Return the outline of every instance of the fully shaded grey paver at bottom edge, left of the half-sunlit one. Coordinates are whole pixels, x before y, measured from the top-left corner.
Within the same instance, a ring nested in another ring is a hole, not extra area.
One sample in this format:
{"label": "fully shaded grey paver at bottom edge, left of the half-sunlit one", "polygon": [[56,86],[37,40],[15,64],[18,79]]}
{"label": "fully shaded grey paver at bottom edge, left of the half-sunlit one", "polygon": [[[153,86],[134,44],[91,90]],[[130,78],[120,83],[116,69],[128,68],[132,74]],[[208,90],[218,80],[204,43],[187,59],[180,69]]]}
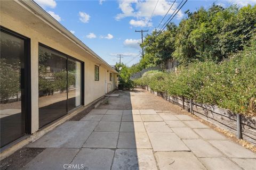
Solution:
{"label": "fully shaded grey paver at bottom edge, left of the half-sunlit one", "polygon": [[82,148],[71,164],[83,164],[83,169],[110,169],[114,152],[112,149]]}

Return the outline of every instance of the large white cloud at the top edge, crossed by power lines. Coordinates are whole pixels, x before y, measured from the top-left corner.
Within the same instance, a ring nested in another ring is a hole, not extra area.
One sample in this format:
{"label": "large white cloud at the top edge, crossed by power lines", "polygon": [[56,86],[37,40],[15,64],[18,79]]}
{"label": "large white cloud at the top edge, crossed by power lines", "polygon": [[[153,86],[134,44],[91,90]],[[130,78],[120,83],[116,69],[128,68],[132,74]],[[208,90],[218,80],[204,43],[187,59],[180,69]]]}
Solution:
{"label": "large white cloud at the top edge, crossed by power lines", "polygon": [[[155,8],[156,1],[138,1],[138,0],[131,0],[131,1],[118,1],[119,8],[121,9],[122,13],[119,13],[116,15],[116,20],[121,20],[125,17],[134,17],[137,18],[137,20],[143,19],[151,20],[150,16]],[[162,0],[158,1],[158,4],[155,8],[153,16],[164,16],[166,12],[169,10],[173,2]],[[178,7],[179,3],[174,3],[171,10],[169,11],[169,14],[172,14],[175,9]],[[183,18],[184,14],[182,13],[182,10],[180,10],[176,18],[181,19]],[[130,21],[131,22],[131,21]],[[133,22],[134,23],[134,22]]]}

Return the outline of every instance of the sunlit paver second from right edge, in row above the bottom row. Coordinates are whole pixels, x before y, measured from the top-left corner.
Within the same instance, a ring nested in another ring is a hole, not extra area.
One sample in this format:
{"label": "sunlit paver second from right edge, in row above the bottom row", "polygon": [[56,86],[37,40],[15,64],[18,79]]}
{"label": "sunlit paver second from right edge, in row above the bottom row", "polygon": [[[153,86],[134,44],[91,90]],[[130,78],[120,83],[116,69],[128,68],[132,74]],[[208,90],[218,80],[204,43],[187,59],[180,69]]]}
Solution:
{"label": "sunlit paver second from right edge, in row above the bottom row", "polygon": [[202,139],[183,139],[183,142],[197,157],[221,157],[220,151]]}

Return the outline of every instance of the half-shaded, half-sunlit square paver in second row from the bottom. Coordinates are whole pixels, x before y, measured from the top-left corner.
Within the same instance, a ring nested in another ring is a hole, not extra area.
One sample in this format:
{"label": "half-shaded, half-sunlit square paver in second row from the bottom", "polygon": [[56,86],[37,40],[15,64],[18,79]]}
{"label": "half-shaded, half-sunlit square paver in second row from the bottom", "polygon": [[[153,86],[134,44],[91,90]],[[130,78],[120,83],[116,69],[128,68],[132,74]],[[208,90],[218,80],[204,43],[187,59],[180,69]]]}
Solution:
{"label": "half-shaded, half-sunlit square paver in second row from the bottom", "polygon": [[152,149],[146,132],[120,132],[117,148]]}

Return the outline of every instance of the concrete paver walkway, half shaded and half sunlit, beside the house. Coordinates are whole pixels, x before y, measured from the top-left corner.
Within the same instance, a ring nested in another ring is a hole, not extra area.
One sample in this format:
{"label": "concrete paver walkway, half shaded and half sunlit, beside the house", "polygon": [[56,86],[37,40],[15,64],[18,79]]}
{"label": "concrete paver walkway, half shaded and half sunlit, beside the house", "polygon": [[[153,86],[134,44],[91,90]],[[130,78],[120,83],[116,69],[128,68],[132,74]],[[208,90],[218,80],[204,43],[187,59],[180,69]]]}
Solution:
{"label": "concrete paver walkway, half shaded and half sunlit, beside the house", "polygon": [[65,122],[28,147],[46,149],[24,169],[256,167],[254,152],[193,117],[145,108],[94,109],[82,120]]}

